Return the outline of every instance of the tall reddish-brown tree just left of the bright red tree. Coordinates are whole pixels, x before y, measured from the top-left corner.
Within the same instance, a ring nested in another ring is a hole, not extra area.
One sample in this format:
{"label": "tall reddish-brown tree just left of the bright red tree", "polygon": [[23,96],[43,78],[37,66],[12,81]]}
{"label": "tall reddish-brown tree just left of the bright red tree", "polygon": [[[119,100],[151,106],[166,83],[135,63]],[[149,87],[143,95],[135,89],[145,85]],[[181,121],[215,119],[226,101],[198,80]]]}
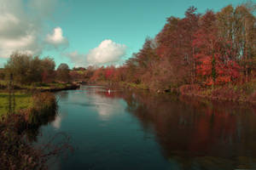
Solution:
{"label": "tall reddish-brown tree just left of the bright red tree", "polygon": [[156,37],[159,43],[157,53],[168,58],[180,83],[195,82],[195,49],[192,42],[199,27],[199,19],[200,14],[196,13],[196,8],[190,7],[185,12],[185,18],[168,18],[166,26]]}

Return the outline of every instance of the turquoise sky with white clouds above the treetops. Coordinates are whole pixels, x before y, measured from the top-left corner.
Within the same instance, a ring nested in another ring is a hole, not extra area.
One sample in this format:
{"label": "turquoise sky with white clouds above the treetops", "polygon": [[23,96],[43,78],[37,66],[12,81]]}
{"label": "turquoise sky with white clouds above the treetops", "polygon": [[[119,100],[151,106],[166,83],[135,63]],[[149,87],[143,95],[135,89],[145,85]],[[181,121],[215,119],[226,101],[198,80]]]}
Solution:
{"label": "turquoise sky with white clouds above the treetops", "polygon": [[[3,6],[4,10],[0,12],[0,16],[3,16],[5,26],[15,25],[15,18],[28,24],[32,23],[31,28],[20,26],[20,30],[13,31],[14,35],[18,32],[18,36],[16,39],[14,36],[7,37],[9,43],[4,42],[6,37],[1,39],[1,36],[9,31],[8,27],[1,30],[0,26],[0,45],[9,44],[6,48],[0,46],[0,66],[3,66],[12,50],[26,50],[32,54],[40,54],[41,57],[49,55],[55,59],[57,65],[65,62],[70,67],[121,64],[143,46],[146,37],[154,37],[162,29],[167,17],[181,18],[190,6],[195,6],[200,13],[204,13],[207,8],[218,11],[228,4],[236,6],[244,2],[0,0],[0,3],[7,4],[6,6],[17,6],[15,11]],[[13,17],[10,14],[13,14]],[[27,33],[27,29],[31,32]],[[20,38],[22,36],[23,39]],[[20,41],[24,43],[20,44]],[[6,50],[7,48],[9,50]]]}

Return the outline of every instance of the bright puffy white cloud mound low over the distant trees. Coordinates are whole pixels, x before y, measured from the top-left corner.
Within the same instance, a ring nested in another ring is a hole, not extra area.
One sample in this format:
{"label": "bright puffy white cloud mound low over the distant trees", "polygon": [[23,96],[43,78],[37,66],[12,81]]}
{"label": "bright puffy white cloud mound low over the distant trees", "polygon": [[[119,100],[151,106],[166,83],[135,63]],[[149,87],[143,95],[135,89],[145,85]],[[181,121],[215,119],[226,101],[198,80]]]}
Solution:
{"label": "bright puffy white cloud mound low over the distant trees", "polygon": [[104,65],[118,62],[125,55],[126,46],[113,42],[112,40],[104,40],[94,49],[91,49],[86,55],[87,62],[90,65]]}

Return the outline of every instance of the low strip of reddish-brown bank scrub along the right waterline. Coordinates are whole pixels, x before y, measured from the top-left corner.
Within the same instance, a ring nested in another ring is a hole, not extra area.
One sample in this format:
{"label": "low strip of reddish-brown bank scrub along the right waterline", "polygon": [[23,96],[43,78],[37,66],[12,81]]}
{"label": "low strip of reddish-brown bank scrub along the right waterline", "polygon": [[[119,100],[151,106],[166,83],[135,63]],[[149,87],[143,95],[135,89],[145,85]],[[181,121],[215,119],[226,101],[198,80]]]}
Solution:
{"label": "low strip of reddish-brown bank scrub along the right waterline", "polygon": [[[252,83],[252,82],[251,82]],[[230,101],[241,104],[256,105],[256,89],[250,84],[242,86],[217,86],[201,87],[199,84],[183,85],[179,88],[171,89],[150,89],[143,84],[131,82],[90,82],[90,85],[106,86],[108,88],[125,88],[148,91],[154,94],[177,94],[196,99],[208,99],[212,101]]]}

